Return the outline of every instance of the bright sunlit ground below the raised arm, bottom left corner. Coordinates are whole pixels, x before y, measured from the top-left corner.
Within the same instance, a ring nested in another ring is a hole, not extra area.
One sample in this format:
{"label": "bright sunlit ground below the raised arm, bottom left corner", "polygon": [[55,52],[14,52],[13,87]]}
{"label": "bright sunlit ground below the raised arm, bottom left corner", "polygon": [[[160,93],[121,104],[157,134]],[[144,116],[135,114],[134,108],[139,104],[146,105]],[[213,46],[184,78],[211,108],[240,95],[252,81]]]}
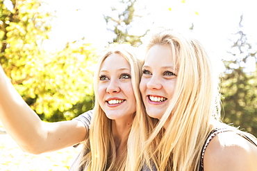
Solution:
{"label": "bright sunlit ground below the raised arm, bottom left corner", "polygon": [[67,171],[80,150],[80,147],[67,147],[56,152],[28,154],[23,152],[8,134],[0,134],[0,170]]}

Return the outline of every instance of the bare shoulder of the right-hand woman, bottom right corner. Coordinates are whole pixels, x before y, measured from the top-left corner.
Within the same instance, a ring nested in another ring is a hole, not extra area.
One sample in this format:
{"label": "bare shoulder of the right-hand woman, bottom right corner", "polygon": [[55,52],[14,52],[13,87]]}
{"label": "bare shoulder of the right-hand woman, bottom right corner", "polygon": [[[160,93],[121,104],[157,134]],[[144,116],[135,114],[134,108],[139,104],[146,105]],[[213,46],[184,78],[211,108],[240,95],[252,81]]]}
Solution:
{"label": "bare shoulder of the right-hand woman, bottom right corner", "polygon": [[256,171],[257,147],[235,132],[217,134],[204,153],[204,171]]}

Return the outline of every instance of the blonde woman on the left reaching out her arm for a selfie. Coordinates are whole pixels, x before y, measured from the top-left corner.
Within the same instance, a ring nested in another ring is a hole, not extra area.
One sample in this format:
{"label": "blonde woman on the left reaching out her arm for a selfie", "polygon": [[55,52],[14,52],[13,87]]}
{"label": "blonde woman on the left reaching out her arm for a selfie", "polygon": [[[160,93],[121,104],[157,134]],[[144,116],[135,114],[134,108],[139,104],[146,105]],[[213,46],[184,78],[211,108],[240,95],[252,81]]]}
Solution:
{"label": "blonde woman on the left reaching out her arm for a selfie", "polygon": [[0,119],[6,131],[22,150],[33,154],[83,143],[71,170],[125,170],[129,132],[142,105],[142,63],[133,51],[125,44],[108,48],[94,74],[94,109],[56,123],[40,120],[0,66]]}

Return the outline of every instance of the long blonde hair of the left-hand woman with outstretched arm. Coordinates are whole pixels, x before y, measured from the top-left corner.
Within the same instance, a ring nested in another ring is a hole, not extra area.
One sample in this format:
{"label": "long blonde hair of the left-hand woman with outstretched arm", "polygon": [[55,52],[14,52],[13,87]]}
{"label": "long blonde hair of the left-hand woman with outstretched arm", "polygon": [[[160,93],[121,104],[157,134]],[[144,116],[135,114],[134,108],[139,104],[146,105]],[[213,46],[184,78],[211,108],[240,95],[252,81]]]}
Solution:
{"label": "long blonde hair of the left-hand woman with outstretched arm", "polygon": [[[142,101],[140,99],[138,85],[141,78],[142,62],[135,57],[132,48],[128,44],[110,46],[98,62],[97,71],[94,73],[94,112],[90,125],[89,138],[83,147],[83,158],[81,160],[83,170],[125,170],[127,152],[125,150],[122,156],[116,156],[115,142],[111,132],[111,120],[106,117],[106,114],[99,105],[97,85],[99,84],[99,71],[104,60],[113,53],[122,55],[131,66],[131,82],[135,100],[137,101],[136,109],[138,110],[141,107],[138,105],[140,104],[138,102]],[[137,111],[135,115],[137,115]]]}

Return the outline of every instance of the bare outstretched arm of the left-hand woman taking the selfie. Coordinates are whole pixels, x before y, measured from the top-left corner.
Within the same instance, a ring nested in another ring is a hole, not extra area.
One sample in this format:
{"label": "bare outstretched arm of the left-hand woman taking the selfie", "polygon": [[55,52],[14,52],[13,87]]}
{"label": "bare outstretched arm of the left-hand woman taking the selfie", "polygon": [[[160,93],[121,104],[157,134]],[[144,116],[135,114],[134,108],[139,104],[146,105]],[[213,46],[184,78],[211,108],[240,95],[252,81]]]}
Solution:
{"label": "bare outstretched arm of the left-hand woman taking the selfie", "polygon": [[19,96],[0,65],[0,120],[25,152],[40,154],[80,143],[87,133],[79,120],[45,123]]}

